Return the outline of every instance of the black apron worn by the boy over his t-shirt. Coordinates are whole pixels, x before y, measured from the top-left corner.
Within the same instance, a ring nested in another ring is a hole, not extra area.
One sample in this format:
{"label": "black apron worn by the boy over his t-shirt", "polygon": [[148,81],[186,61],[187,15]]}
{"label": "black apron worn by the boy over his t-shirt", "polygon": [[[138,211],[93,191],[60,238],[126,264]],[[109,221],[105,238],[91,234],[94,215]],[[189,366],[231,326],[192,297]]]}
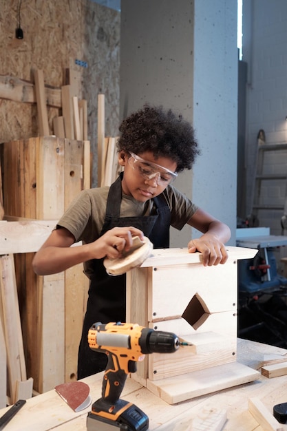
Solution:
{"label": "black apron worn by the boy over his t-shirt", "polygon": [[[122,178],[123,174],[109,189],[105,222],[100,235],[113,227],[132,226],[140,229],[151,240],[154,249],[169,248],[171,213],[164,197],[160,195],[153,199],[156,206],[154,215],[120,218]],[[107,355],[89,348],[87,333],[96,322],[125,322],[125,280],[125,274],[107,275],[103,259],[94,260],[94,275],[89,286],[87,311],[78,350],[78,379],[105,370]]]}

